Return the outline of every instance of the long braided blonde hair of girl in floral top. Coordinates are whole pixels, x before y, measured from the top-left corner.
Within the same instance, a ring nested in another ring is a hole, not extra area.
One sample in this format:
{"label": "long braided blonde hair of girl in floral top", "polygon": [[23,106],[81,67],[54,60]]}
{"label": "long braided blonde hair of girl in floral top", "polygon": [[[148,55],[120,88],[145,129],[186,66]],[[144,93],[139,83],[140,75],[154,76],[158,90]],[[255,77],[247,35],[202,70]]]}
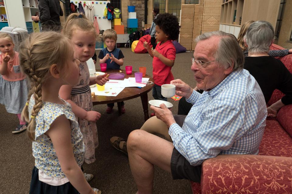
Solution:
{"label": "long braided blonde hair of girl in floral top", "polygon": [[20,46],[19,59],[23,72],[30,79],[30,92],[27,104],[33,94],[34,102],[29,118],[28,105],[22,111],[22,118],[29,122],[27,133],[31,140],[35,140],[35,117],[43,105],[42,85],[50,75],[50,67],[57,64],[64,72],[67,60],[73,54],[70,40],[57,32],[33,33]]}

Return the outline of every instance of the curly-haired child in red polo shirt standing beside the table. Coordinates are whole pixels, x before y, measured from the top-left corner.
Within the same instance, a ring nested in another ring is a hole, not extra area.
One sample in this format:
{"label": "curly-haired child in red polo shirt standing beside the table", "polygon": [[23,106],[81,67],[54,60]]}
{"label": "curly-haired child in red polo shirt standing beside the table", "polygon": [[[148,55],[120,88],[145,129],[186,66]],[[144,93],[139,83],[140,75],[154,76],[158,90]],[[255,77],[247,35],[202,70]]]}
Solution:
{"label": "curly-haired child in red polo shirt standing beside the table", "polygon": [[[161,85],[169,84],[174,77],[171,68],[176,59],[176,48],[171,40],[179,38],[179,22],[176,16],[165,13],[159,14],[154,19],[156,24],[156,39],[159,41],[156,48],[151,50],[147,42],[144,42],[144,48],[147,49],[149,55],[153,57],[153,79],[155,81],[152,96],[156,100],[165,100],[167,98],[161,95]],[[151,114],[152,116],[152,114]]]}

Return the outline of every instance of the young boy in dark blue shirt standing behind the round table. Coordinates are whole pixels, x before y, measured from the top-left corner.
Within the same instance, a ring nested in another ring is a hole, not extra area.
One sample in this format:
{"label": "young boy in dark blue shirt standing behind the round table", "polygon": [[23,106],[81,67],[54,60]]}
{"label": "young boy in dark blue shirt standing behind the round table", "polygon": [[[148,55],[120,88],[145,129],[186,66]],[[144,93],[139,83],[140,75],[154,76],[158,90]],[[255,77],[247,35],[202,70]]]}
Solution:
{"label": "young boy in dark blue shirt standing behind the round table", "polygon": [[[98,58],[99,63],[106,63],[106,69],[120,69],[124,64],[124,55],[122,51],[116,48],[117,35],[113,29],[107,29],[103,32],[103,41],[106,43],[106,48],[101,49]],[[114,103],[107,104],[106,113],[113,111]],[[125,113],[124,102],[121,102],[121,112]]]}

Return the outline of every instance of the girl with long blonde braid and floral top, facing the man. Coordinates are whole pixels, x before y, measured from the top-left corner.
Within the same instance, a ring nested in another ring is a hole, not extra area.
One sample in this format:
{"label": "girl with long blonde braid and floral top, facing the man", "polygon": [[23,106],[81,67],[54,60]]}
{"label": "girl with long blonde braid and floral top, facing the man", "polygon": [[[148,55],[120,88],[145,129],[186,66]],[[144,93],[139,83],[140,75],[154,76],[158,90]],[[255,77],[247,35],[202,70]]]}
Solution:
{"label": "girl with long blonde braid and floral top, facing the man", "polygon": [[68,38],[56,32],[32,34],[20,47],[20,64],[31,82],[22,116],[33,141],[35,167],[30,194],[101,193],[83,175],[85,146],[71,105],[59,97],[62,85],[76,85],[79,60]]}

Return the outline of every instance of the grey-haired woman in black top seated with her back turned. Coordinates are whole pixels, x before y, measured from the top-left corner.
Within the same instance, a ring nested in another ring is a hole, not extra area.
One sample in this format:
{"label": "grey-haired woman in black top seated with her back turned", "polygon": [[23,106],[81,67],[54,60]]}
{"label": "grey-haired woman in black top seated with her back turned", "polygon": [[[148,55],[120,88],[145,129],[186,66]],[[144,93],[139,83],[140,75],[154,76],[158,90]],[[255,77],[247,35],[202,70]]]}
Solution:
{"label": "grey-haired woman in black top seated with her back turned", "polygon": [[253,22],[244,40],[249,49],[244,69],[259,83],[266,103],[275,89],[285,94],[281,100],[268,107],[268,116],[275,117],[281,107],[292,104],[292,75],[279,59],[268,55],[269,47],[274,42],[273,26],[266,21]]}

